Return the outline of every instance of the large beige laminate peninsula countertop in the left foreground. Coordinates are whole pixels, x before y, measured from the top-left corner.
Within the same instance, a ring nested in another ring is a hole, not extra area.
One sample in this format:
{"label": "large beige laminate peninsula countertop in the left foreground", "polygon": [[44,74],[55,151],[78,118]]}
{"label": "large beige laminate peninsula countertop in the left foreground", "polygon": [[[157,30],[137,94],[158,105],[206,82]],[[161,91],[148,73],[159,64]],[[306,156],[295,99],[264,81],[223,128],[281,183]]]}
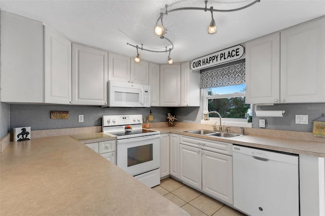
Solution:
{"label": "large beige laminate peninsula countertop in the left foreground", "polygon": [[71,136],[10,142],[0,215],[188,215]]}

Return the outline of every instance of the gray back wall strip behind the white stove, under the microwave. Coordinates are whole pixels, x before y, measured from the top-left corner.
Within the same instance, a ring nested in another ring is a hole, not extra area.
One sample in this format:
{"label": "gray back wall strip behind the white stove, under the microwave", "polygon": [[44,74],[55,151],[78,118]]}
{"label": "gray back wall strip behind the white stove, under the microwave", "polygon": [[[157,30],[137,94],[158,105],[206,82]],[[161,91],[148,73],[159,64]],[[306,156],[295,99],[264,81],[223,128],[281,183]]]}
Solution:
{"label": "gray back wall strip behind the white stove, under the microwave", "polygon": [[[143,121],[150,110],[154,116],[152,122],[166,122],[170,109],[165,107],[150,108],[102,108],[83,105],[10,105],[10,129],[31,127],[31,130],[101,126],[104,115],[142,114]],[[69,119],[50,119],[50,111],[69,111]],[[78,122],[78,115],[84,115],[84,122]]]}

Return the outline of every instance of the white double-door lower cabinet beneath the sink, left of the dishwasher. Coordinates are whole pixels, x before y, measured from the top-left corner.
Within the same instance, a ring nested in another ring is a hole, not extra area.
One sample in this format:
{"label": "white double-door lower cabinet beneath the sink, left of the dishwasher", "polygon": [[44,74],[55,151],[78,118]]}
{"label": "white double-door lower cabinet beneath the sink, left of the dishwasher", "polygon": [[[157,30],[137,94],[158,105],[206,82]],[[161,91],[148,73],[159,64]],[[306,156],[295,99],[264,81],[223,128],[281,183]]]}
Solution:
{"label": "white double-door lower cabinet beneath the sink, left of the dishwasher", "polygon": [[233,204],[232,143],[183,135],[179,140],[181,181],[220,201]]}

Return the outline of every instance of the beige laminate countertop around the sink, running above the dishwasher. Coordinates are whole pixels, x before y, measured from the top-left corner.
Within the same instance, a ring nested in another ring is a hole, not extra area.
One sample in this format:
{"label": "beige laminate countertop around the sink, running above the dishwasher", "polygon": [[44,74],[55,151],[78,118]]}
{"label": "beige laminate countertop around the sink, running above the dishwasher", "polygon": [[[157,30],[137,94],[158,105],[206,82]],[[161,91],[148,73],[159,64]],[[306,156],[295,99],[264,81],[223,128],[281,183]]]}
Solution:
{"label": "beige laminate countertop around the sink, running above the dishwasher", "polygon": [[245,135],[232,139],[210,137],[206,135],[191,134],[184,131],[201,129],[188,127],[152,127],[152,130],[159,130],[160,133],[177,133],[181,135],[193,136],[198,138],[206,138],[216,141],[229,142],[233,144],[243,145],[247,147],[256,147],[267,150],[275,150],[294,154],[312,155],[317,157],[325,157],[325,143],[304,141],[299,139],[276,138],[268,136]]}

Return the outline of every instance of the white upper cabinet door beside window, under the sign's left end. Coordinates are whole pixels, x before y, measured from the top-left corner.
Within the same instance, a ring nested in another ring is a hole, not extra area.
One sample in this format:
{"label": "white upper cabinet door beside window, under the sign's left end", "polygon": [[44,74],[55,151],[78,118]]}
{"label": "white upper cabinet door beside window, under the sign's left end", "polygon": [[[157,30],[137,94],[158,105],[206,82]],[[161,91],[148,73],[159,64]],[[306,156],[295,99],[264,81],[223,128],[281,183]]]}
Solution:
{"label": "white upper cabinet door beside window, under the sign's left end", "polygon": [[181,64],[181,106],[200,106],[200,72]]}

